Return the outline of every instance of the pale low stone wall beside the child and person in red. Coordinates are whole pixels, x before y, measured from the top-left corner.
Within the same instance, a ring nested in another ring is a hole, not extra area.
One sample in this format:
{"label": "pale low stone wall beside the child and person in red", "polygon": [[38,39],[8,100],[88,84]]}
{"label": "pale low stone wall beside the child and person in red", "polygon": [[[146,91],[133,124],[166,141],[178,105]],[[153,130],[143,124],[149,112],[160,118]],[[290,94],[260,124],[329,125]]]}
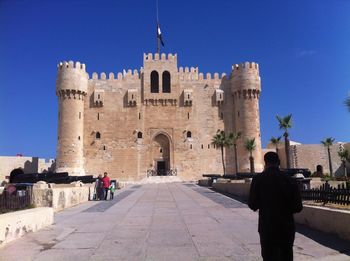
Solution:
{"label": "pale low stone wall beside the child and person in red", "polygon": [[52,207],[55,212],[92,199],[94,184],[46,184],[33,186],[33,200],[37,207]]}

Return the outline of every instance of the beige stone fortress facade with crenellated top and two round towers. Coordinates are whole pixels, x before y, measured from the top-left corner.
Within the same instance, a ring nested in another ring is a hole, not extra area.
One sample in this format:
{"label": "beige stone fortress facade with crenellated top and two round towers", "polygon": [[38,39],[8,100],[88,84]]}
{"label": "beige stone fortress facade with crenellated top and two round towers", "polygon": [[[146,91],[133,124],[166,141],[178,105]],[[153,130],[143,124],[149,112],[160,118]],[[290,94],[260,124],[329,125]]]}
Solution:
{"label": "beige stone fortress facade with crenellated top and two round towers", "polygon": [[[212,144],[218,130],[242,132],[238,169],[249,171],[248,138],[255,138],[255,169],[263,168],[259,67],[246,62],[229,76],[178,67],[177,55],[144,54],[143,67],[114,75],[85,64],[58,65],[56,171],[137,181],[147,174],[177,174],[194,180],[223,173]],[[227,173],[235,172],[233,148],[225,149]],[[151,171],[152,170],[152,171]]]}

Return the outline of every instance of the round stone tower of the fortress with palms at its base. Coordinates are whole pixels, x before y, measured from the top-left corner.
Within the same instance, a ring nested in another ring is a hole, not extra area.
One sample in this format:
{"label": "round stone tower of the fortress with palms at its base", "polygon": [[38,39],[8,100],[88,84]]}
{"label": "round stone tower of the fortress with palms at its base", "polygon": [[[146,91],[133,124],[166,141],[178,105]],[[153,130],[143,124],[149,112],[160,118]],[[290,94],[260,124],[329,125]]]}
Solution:
{"label": "round stone tower of the fortress with palms at its base", "polygon": [[255,171],[263,170],[260,136],[259,97],[261,91],[259,66],[246,62],[232,67],[231,91],[234,101],[235,131],[242,136],[237,142],[238,171],[249,172],[249,152],[245,149],[247,139],[255,138],[256,148],[253,151]]}

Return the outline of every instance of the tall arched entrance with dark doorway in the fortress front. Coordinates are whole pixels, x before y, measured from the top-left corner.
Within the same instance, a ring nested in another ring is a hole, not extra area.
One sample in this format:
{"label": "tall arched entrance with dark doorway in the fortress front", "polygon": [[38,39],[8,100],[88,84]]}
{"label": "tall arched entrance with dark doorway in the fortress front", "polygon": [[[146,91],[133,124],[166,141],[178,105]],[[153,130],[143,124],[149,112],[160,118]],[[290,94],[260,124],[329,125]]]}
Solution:
{"label": "tall arched entrance with dark doorway in the fortress front", "polygon": [[167,175],[170,170],[170,140],[163,133],[157,134],[152,141],[152,160],[158,176]]}

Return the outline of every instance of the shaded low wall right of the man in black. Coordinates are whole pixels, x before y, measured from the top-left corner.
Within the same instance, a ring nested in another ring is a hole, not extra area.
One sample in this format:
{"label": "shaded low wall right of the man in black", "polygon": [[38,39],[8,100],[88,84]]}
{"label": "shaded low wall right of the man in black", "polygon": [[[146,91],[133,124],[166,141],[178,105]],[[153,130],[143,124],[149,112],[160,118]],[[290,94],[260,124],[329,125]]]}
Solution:
{"label": "shaded low wall right of the man in black", "polygon": [[305,206],[294,215],[296,223],[333,233],[350,241],[350,211],[317,206]]}

